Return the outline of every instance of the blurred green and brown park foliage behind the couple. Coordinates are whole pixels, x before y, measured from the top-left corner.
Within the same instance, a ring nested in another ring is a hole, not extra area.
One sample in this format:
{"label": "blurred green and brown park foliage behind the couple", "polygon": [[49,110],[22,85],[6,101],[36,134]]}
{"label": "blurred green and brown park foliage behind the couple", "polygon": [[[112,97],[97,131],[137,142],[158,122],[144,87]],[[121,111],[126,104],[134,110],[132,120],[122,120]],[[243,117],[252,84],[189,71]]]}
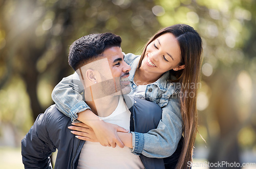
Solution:
{"label": "blurred green and brown park foliage behind the couple", "polygon": [[0,0],[0,146],[20,147],[53,104],[53,87],[73,73],[68,49],[77,38],[113,32],[123,52],[140,54],[157,30],[186,23],[204,43],[198,110],[206,143],[198,136],[195,154],[256,162],[255,13],[255,0]]}

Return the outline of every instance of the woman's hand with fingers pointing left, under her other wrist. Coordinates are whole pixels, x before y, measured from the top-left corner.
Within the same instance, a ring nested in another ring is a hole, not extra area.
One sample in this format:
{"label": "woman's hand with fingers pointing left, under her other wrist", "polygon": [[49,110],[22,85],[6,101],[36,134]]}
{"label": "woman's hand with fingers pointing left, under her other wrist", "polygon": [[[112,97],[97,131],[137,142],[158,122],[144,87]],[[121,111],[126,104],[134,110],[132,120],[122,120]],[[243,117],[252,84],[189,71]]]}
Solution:
{"label": "woman's hand with fingers pointing left, under her other wrist", "polygon": [[72,123],[73,126],[69,126],[71,133],[76,135],[76,138],[80,140],[86,140],[91,142],[99,142],[93,129],[84,123]]}

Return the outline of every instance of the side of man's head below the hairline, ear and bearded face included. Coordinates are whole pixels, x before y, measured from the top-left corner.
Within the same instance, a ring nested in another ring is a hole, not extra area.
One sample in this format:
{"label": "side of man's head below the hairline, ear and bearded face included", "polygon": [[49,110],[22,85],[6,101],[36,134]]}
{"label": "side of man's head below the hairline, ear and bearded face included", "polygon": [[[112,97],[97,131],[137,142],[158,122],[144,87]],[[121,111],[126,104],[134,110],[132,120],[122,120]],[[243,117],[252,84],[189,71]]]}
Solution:
{"label": "side of man's head below the hairline, ear and bearded face included", "polygon": [[87,101],[109,95],[128,94],[131,91],[129,71],[131,67],[123,60],[120,47],[106,49],[97,60],[88,63],[76,72],[83,83]]}

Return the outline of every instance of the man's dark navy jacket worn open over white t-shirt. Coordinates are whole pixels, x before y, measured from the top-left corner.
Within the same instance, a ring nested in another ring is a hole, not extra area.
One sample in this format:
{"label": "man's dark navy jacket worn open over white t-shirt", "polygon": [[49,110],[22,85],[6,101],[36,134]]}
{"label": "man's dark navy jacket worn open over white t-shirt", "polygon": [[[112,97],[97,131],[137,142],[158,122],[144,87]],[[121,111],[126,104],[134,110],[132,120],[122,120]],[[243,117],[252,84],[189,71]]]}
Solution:
{"label": "man's dark navy jacket worn open over white t-shirt", "polygon": [[[161,108],[152,102],[130,98],[124,101],[131,112],[130,130],[145,133],[157,127]],[[152,111],[154,111],[152,113]],[[50,155],[58,149],[54,168],[77,168],[84,140],[70,132],[69,117],[57,110],[56,105],[39,114],[34,125],[22,140],[22,159],[25,168],[52,168]],[[168,158],[148,158],[139,155],[145,168],[175,168],[181,154],[182,140],[175,153]]]}

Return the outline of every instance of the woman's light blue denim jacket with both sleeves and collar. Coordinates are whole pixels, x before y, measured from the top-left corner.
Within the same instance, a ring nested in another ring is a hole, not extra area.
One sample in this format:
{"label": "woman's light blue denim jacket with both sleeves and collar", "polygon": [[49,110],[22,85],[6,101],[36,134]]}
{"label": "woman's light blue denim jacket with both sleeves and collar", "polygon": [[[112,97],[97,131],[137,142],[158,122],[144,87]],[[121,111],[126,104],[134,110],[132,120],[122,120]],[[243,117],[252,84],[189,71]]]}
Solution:
{"label": "woman's light blue denim jacket with both sleeves and collar", "polygon": [[[130,84],[132,90],[137,88],[133,79],[140,56],[124,54],[124,61],[131,66]],[[162,119],[157,129],[147,133],[132,132],[134,154],[143,154],[146,157],[164,158],[172,155],[179,143],[182,134],[182,117],[178,93],[180,88],[176,83],[168,82],[167,71],[156,82],[148,84],[145,99],[157,103],[162,108]],[[83,101],[83,85],[78,74],[74,73],[63,78],[53,89],[52,99],[59,111],[78,122],[77,113],[90,109]]]}

